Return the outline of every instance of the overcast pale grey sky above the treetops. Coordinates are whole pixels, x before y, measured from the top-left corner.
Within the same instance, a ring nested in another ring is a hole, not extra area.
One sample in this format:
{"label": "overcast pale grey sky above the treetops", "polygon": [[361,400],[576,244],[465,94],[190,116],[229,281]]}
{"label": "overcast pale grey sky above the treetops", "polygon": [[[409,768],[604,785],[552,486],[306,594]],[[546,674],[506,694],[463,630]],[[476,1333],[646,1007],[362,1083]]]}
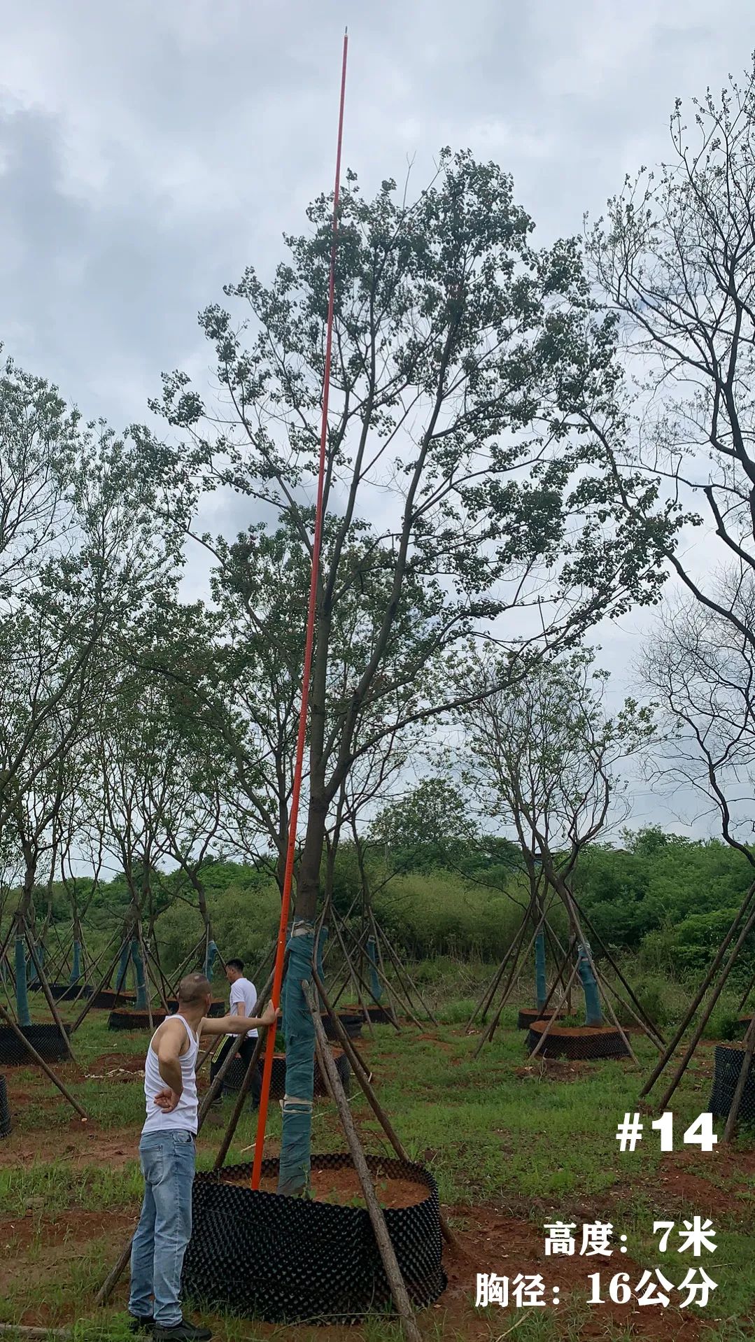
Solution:
{"label": "overcast pale grey sky above the treetops", "polygon": [[[148,419],[160,373],[200,382],[197,313],[333,183],[365,191],[443,145],[515,178],[542,243],[668,150],[675,97],[755,47],[751,0],[24,0],[0,3],[0,338],[89,416]],[[243,525],[243,518],[233,518]],[[220,527],[223,518],[213,525]],[[601,633],[629,687],[641,621]],[[636,797],[636,823],[671,811]]]}

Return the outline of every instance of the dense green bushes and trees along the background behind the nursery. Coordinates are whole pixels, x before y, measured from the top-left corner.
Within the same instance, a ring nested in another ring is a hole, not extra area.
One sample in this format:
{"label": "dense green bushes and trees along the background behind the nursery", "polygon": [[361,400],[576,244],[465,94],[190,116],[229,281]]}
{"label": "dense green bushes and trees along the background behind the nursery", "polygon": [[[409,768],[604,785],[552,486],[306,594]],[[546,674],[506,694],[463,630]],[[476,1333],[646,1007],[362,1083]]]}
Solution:
{"label": "dense green bushes and trees along the background behind the nursery", "polygon": [[[436,843],[418,840],[389,856],[373,848],[367,872],[381,925],[414,962],[437,957],[496,962],[522,922],[526,882],[507,839],[459,841],[451,855]],[[270,870],[220,859],[202,868],[202,882],[221,953],[240,954],[253,965],[278,927],[280,896]],[[644,976],[671,976],[688,984],[699,978],[720,945],[750,882],[744,855],[720,840],[691,840],[649,828],[625,832],[616,844],[586,848],[574,890],[609,950],[637,958]],[[79,884],[83,896],[90,882],[79,878]],[[161,874],[154,887],[156,905],[162,906],[156,933],[168,970],[181,964],[201,935],[201,918],[184,884],[176,871]],[[357,854],[343,843],[335,859],[333,903],[339,915],[358,917],[361,898]],[[122,876],[99,884],[86,919],[93,951],[127,909]],[[56,929],[64,942],[70,917],[66,891],[55,884],[50,953]],[[553,922],[566,931],[555,905]],[[750,941],[738,981],[755,970],[755,935]],[[594,951],[599,958],[599,945]]]}

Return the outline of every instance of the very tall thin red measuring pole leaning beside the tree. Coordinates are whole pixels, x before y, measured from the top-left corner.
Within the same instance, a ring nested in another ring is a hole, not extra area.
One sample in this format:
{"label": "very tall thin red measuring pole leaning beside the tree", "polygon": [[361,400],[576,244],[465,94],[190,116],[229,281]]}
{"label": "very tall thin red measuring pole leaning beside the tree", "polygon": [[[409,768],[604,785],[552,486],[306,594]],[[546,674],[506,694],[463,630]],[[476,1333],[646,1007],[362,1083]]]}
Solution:
{"label": "very tall thin red measuring pole leaning beside the tree", "polygon": [[[319,474],[318,498],[315,509],[315,534],[312,539],[312,574],[310,581],[310,605],[307,611],[307,640],[304,644],[304,670],[302,675],[302,707],[299,710],[299,735],[296,738],[296,761],[294,766],[294,786],[291,789],[291,815],[288,817],[288,847],[286,851],[286,872],[283,875],[283,892],[280,899],[280,927],[278,930],[278,947],[275,953],[275,972],[272,976],[271,1000],[280,1005],[280,988],[283,985],[283,957],[286,954],[286,929],[288,926],[288,910],[291,907],[291,884],[294,880],[294,856],[296,852],[296,821],[299,819],[299,794],[302,792],[302,768],[304,762],[304,738],[307,734],[307,707],[310,702],[310,674],[312,668],[312,646],[315,640],[315,605],[319,574],[319,556],[322,545],[322,513],[323,513],[323,486],[325,463],[327,450],[327,405],[330,400],[330,362],[333,352],[333,309],[335,303],[335,247],[338,242],[338,196],[341,187],[341,145],[343,141],[343,105],[346,101],[346,56],[349,51],[349,30],[343,34],[343,63],[341,68],[341,105],[338,111],[338,148],[335,152],[335,188],[333,192],[333,243],[330,247],[330,290],[327,298],[327,334],[325,346],[325,374],[322,386],[322,423],[319,442]],[[255,1162],[252,1166],[252,1188],[260,1186],[262,1161],[264,1151],[264,1130],[267,1126],[267,1104],[270,1099],[270,1082],[272,1076],[272,1055],[275,1052],[275,1031],[268,1031],[264,1068],[262,1079],[260,1107],[257,1115],[257,1135],[255,1141]]]}

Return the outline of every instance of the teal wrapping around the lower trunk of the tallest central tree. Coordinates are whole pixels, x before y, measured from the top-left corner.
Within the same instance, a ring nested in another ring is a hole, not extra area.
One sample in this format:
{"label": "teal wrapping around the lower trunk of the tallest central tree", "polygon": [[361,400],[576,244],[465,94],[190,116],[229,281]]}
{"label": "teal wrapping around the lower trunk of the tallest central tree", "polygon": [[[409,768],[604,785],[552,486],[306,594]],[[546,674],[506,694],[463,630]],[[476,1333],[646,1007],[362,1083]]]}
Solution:
{"label": "teal wrapping around the lower trunk of the tallest central tree", "polygon": [[286,1098],[278,1178],[278,1192],[290,1196],[306,1190],[311,1169],[315,1027],[302,992],[302,981],[308,982],[311,978],[314,953],[314,923],[295,919],[283,993]]}

